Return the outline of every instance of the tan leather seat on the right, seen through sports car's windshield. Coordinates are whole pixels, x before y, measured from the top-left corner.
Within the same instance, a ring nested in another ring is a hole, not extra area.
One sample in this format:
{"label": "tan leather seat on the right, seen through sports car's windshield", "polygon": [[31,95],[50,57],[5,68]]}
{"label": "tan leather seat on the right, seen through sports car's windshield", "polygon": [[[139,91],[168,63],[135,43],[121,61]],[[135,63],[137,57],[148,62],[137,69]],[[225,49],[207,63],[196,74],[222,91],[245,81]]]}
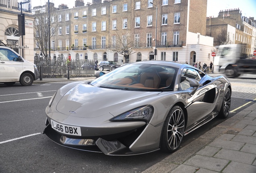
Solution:
{"label": "tan leather seat on the right, seen through sports car's windshield", "polygon": [[157,72],[145,72],[140,76],[140,83],[147,88],[159,88],[161,78]]}

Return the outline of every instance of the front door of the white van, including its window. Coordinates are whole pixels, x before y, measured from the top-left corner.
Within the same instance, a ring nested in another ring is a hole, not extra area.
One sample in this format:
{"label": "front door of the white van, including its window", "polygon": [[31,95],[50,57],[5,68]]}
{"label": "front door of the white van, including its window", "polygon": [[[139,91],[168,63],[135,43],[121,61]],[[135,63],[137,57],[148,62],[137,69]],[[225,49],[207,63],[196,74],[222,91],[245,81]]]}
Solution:
{"label": "front door of the white van, including its window", "polygon": [[18,81],[23,71],[23,62],[19,55],[7,48],[0,48],[0,82]]}

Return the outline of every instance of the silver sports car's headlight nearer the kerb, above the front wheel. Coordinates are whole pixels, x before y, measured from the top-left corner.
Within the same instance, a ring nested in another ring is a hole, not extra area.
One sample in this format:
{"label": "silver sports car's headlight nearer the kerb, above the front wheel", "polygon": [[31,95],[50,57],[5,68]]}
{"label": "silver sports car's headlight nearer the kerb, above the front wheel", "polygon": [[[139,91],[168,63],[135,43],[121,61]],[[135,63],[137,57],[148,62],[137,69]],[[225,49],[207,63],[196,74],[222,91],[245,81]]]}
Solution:
{"label": "silver sports car's headlight nearer the kerb, above the front wheel", "polygon": [[151,105],[138,107],[136,109],[132,109],[126,113],[118,115],[109,121],[145,121],[148,123],[154,113],[154,108]]}

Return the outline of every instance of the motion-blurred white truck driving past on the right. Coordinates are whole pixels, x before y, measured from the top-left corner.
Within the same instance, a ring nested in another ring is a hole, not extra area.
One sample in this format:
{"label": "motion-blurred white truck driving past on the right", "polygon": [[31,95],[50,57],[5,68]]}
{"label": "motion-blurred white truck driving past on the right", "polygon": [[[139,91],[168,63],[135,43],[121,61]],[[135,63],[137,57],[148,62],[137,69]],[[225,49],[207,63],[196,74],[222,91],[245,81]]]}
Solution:
{"label": "motion-blurred white truck driving past on the right", "polygon": [[246,44],[220,45],[214,58],[214,70],[223,72],[229,78],[240,74],[256,74],[256,59],[243,54]]}

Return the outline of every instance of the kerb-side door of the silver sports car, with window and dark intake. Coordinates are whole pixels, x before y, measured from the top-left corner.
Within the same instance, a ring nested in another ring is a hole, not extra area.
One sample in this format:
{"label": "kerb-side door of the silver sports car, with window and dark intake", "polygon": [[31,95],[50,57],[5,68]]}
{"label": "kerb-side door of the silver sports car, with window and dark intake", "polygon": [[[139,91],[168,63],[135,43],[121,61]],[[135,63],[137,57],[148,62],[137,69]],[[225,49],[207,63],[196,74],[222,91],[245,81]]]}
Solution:
{"label": "kerb-side door of the silver sports car, with window and dark intake", "polygon": [[[199,82],[199,87],[193,95],[189,93],[193,90],[190,87],[190,78]],[[197,125],[200,121],[209,115],[214,107],[216,99],[215,84],[210,81],[205,81],[205,77],[201,78],[199,72],[194,68],[184,68],[182,70],[180,80],[180,90],[187,92],[186,109],[188,112],[188,121],[186,129],[190,129]]]}

